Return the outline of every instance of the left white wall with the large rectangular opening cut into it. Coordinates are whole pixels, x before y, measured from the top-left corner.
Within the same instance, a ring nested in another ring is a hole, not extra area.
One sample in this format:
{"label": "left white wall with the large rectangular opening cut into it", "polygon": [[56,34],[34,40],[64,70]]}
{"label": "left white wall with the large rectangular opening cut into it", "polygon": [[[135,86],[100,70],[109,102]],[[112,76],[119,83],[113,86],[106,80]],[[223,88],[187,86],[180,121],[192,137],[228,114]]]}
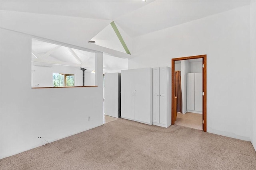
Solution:
{"label": "left white wall with the large rectangular opening cut into it", "polygon": [[[31,88],[31,37],[0,29],[0,158],[102,125],[98,87]],[[102,53],[96,53],[102,75]],[[68,106],[68,107],[64,107]],[[88,121],[90,116],[90,121]]]}

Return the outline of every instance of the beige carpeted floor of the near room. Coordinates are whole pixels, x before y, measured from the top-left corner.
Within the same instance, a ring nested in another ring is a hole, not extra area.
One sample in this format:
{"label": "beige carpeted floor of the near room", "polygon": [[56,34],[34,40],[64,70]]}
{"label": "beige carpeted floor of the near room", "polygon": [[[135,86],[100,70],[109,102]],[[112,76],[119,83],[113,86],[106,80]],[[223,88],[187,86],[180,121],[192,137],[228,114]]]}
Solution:
{"label": "beige carpeted floor of the near room", "polygon": [[250,142],[118,119],[0,160],[1,170],[255,170]]}

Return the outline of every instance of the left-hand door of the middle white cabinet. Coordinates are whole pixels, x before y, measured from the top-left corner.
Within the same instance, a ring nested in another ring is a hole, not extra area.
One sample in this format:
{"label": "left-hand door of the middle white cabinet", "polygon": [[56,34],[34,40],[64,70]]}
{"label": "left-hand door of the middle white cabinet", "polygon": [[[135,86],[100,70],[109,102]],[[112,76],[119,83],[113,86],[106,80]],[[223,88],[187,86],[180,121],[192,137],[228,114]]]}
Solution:
{"label": "left-hand door of the middle white cabinet", "polygon": [[121,70],[121,117],[134,120],[134,70]]}

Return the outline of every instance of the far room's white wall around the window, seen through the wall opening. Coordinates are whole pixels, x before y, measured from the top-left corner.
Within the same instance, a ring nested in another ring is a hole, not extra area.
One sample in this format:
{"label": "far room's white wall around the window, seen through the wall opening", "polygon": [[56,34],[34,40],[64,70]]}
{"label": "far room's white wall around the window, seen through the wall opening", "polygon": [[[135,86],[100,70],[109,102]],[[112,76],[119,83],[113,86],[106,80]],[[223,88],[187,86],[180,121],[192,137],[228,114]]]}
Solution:
{"label": "far room's white wall around the window, seen through the wall opening", "polygon": [[[83,72],[80,67],[63,66],[56,64],[48,64],[51,67],[38,66],[41,63],[31,64],[32,69],[32,87],[52,87],[52,74],[64,73],[75,75],[75,86],[83,85]],[[84,72],[84,86],[94,86],[95,74],[91,72]],[[39,84],[39,85],[38,85]]]}

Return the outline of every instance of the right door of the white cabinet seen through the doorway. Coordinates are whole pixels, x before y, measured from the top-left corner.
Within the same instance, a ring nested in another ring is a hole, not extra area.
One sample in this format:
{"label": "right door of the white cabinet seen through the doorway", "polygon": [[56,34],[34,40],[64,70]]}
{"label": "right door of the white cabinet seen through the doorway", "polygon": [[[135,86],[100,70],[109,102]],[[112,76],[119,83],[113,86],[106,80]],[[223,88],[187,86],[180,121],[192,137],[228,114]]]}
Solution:
{"label": "right door of the white cabinet seen through the doorway", "polygon": [[203,75],[195,73],[195,111],[203,111]]}

